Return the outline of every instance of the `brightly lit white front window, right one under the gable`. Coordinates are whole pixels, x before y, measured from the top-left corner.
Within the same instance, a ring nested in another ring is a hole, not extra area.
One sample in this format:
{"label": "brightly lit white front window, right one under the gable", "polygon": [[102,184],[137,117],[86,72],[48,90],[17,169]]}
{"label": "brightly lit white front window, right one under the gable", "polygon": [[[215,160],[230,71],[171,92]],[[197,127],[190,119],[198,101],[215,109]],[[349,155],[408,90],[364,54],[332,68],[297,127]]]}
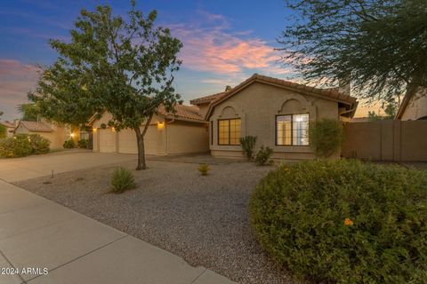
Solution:
{"label": "brightly lit white front window, right one under the gable", "polygon": [[309,114],[276,116],[276,144],[278,146],[308,146]]}

